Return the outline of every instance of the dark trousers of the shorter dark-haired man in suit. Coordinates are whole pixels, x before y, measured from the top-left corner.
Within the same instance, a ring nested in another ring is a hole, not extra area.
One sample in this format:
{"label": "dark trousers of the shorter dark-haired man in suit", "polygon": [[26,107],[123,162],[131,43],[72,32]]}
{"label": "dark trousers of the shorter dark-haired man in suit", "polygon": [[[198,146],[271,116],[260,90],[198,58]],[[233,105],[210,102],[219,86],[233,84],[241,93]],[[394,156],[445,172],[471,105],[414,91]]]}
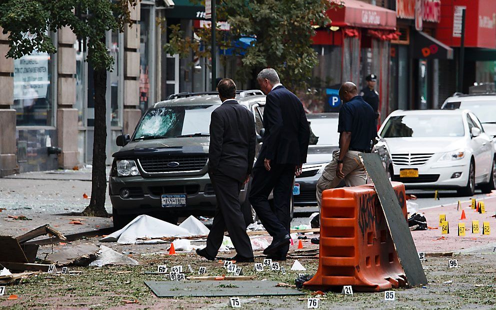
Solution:
{"label": "dark trousers of the shorter dark-haired man in suit", "polygon": [[206,253],[213,257],[217,255],[225,228],[227,228],[237,254],[243,257],[253,257],[251,242],[246,233],[246,225],[239,204],[242,183],[218,172],[210,174],[210,180],[215,191],[217,208],[212,228],[206,239]]}

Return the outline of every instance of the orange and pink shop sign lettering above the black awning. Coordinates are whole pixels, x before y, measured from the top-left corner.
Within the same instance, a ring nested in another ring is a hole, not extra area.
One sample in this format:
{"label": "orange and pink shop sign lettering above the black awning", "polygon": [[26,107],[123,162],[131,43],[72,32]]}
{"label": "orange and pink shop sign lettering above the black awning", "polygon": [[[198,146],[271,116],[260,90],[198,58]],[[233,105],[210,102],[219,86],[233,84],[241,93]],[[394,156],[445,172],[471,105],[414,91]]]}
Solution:
{"label": "orange and pink shop sign lettering above the black awning", "polygon": [[396,16],[405,19],[417,19],[418,9],[416,9],[416,5],[421,7],[422,20],[439,22],[441,17],[440,0],[396,0]]}

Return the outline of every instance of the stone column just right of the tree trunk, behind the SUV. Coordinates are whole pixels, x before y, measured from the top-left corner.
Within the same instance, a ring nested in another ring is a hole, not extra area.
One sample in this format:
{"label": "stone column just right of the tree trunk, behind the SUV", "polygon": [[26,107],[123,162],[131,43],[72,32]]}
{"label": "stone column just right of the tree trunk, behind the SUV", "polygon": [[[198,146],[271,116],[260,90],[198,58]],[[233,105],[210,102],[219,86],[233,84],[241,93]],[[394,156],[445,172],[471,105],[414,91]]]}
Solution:
{"label": "stone column just right of the tree trunk, behind the SUV", "polygon": [[134,22],[124,29],[124,133],[134,131],[141,110],[139,109],[139,19],[140,4],[130,7],[130,19]]}

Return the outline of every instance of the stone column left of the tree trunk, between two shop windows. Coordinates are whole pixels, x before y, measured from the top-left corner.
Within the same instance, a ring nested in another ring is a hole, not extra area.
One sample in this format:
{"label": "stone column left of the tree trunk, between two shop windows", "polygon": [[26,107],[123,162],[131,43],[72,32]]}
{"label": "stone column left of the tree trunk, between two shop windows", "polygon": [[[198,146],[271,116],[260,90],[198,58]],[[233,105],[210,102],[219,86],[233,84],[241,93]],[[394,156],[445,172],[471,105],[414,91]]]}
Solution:
{"label": "stone column left of the tree trunk, between two shop windows", "polygon": [[57,48],[57,140],[62,152],[58,155],[60,168],[72,168],[79,164],[77,150],[76,100],[76,37],[69,27],[58,31]]}

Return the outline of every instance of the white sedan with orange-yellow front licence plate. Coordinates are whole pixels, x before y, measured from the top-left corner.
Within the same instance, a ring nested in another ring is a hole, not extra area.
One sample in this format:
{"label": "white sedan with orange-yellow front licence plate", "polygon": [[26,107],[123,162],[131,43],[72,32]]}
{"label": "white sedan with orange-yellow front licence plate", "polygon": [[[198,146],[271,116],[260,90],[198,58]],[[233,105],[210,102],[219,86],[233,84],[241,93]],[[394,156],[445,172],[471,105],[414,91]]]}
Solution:
{"label": "white sedan with orange-yellow front licence plate", "polygon": [[395,181],[406,188],[495,189],[492,137],[469,110],[396,110],[380,126]]}

